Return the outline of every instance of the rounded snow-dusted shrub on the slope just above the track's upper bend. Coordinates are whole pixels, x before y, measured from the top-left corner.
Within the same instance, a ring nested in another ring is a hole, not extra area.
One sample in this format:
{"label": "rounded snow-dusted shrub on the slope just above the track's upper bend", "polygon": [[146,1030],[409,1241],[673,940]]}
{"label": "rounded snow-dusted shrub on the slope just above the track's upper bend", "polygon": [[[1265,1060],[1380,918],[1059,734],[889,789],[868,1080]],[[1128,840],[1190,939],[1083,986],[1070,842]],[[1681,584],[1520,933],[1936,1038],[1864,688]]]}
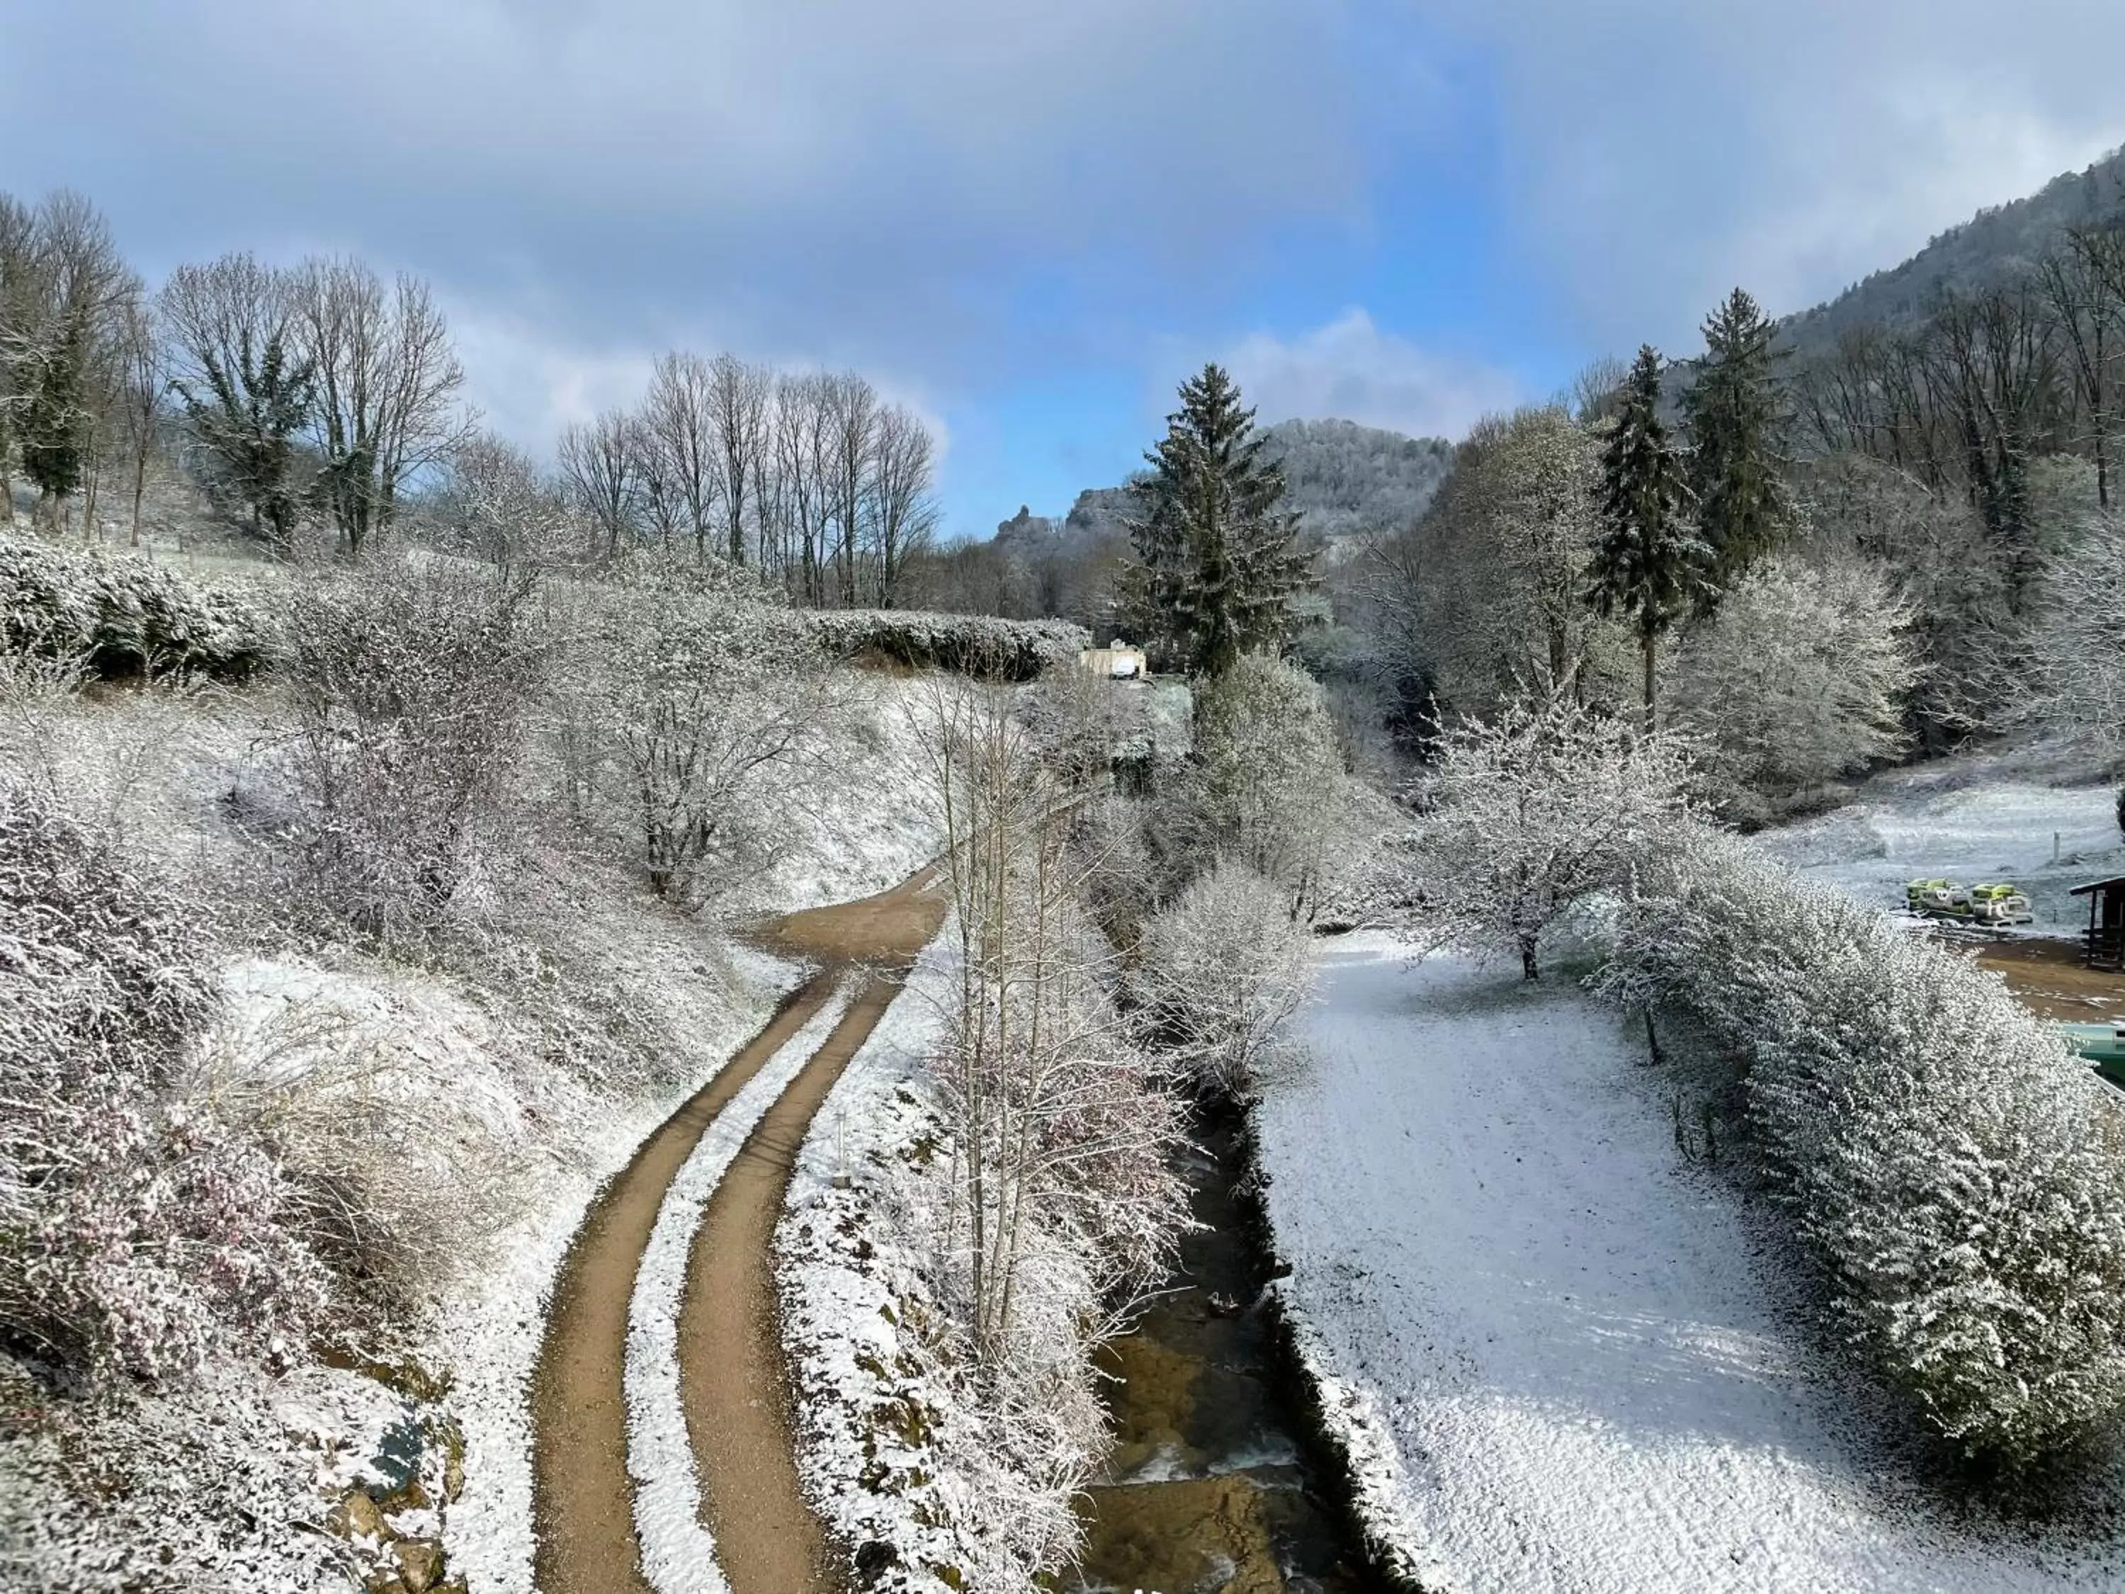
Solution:
{"label": "rounded snow-dusted shrub on the slope just above the track's upper bend", "polygon": [[582,723],[618,769],[650,886],[695,905],[786,837],[844,680],[797,614],[720,561],[623,572],[593,642]]}

